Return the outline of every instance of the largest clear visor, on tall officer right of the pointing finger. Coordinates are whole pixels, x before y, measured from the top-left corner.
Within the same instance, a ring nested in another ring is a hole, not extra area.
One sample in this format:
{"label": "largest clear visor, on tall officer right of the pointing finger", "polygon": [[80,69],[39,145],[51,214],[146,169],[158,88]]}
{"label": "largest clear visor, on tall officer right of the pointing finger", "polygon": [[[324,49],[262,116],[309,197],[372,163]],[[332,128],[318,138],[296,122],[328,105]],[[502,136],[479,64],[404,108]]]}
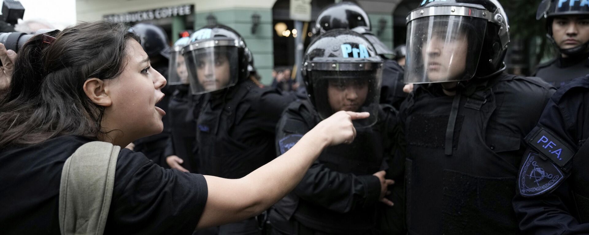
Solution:
{"label": "largest clear visor, on tall officer right of the pointing finger", "polygon": [[477,72],[487,20],[436,15],[407,25],[405,83],[456,82]]}

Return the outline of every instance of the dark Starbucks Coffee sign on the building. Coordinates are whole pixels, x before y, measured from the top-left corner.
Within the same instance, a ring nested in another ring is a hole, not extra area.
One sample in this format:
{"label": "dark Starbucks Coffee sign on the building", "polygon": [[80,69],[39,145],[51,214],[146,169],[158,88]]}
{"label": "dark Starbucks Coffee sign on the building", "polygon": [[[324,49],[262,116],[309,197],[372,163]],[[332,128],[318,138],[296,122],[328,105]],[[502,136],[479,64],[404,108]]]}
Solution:
{"label": "dark Starbucks Coffee sign on the building", "polygon": [[109,19],[114,22],[150,21],[152,19],[163,19],[174,16],[190,15],[192,14],[193,9],[194,5],[168,6],[165,8],[151,9],[146,11],[105,15],[102,16],[102,18]]}

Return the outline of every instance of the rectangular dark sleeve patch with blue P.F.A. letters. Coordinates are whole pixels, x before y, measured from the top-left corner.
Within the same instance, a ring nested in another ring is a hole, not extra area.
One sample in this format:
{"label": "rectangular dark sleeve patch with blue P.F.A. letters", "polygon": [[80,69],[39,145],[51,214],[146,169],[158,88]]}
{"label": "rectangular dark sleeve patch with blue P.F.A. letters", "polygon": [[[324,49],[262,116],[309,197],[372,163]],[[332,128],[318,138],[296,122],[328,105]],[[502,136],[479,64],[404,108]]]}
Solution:
{"label": "rectangular dark sleeve patch with blue P.F.A. letters", "polygon": [[531,138],[527,138],[528,145],[534,147],[542,156],[548,157],[552,162],[564,169],[575,155],[559,137],[552,135],[548,130],[540,128]]}

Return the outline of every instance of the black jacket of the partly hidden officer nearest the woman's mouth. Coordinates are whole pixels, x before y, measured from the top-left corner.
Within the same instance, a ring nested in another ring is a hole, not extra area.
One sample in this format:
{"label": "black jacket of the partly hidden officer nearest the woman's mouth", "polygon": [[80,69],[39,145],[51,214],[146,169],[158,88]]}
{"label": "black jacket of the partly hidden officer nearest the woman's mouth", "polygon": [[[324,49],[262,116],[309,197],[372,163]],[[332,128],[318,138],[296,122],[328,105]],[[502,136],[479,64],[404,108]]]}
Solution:
{"label": "black jacket of the partly hidden officer nearest the woman's mouth", "polygon": [[194,112],[200,110],[203,95],[192,95],[190,86],[176,85],[168,105],[168,120],[171,135],[168,138],[164,156],[176,155],[184,160],[182,167],[197,172],[198,160],[194,156],[196,144],[196,119]]}

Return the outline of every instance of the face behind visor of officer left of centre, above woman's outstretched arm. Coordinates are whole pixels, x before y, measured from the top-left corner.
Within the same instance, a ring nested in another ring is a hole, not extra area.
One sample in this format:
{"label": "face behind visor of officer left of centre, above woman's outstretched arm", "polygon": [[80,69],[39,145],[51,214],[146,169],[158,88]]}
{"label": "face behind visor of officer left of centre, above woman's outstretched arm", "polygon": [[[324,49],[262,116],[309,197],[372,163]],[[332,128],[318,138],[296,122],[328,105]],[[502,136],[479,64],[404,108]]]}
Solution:
{"label": "face behind visor of officer left of centre, above woman's outstretched arm", "polygon": [[229,83],[229,59],[223,53],[215,53],[214,58],[200,56],[196,68],[198,83],[204,90],[215,90]]}

